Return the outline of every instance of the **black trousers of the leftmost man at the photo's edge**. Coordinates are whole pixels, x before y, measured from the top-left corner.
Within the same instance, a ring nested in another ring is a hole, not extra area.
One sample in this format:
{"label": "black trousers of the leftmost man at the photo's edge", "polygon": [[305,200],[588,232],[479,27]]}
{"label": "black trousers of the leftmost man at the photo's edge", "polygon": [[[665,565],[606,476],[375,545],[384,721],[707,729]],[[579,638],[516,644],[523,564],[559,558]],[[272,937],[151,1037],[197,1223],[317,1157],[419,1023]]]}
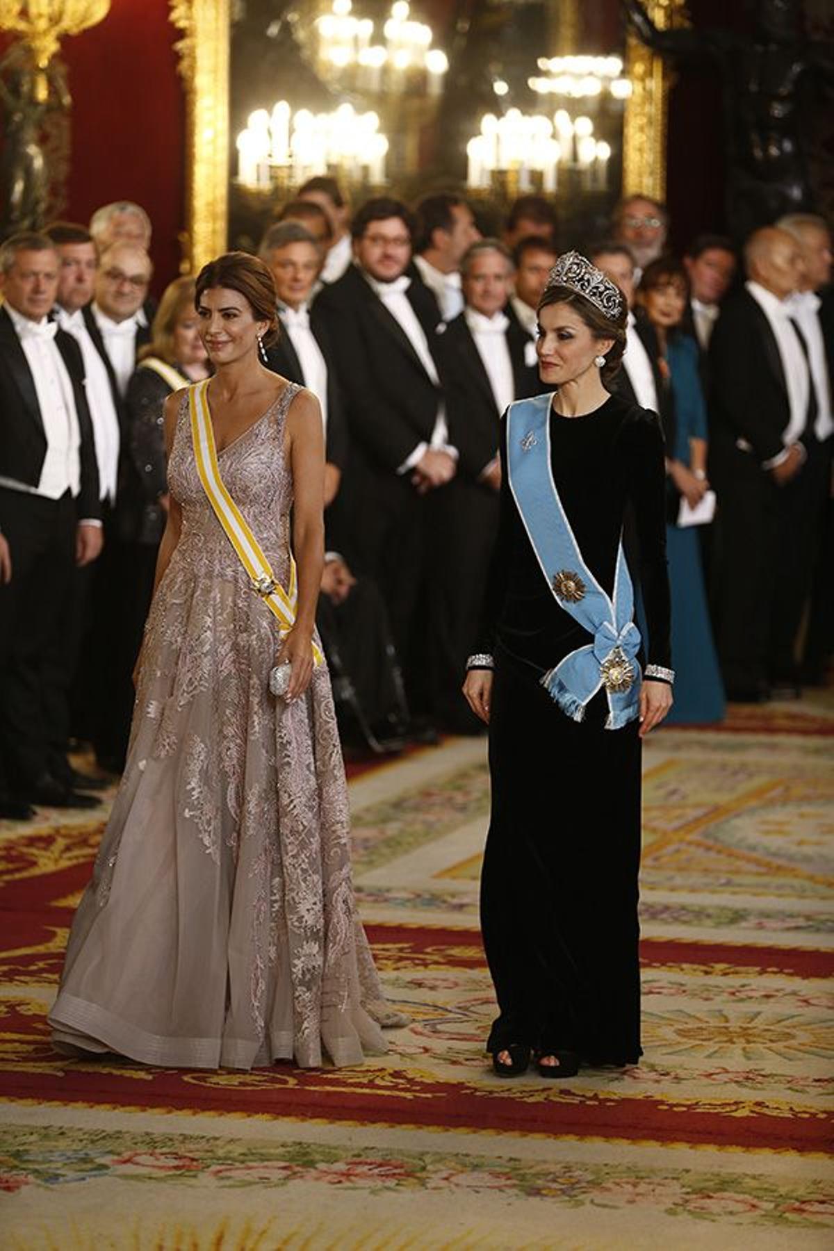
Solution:
{"label": "black trousers of the leftmost man at the photo's edge", "polygon": [[54,727],[66,724],[66,689],[53,672],[68,646],[76,525],[69,492],[53,500],[0,488],[11,550],[11,582],[0,584],[0,742],[15,793],[61,764]]}

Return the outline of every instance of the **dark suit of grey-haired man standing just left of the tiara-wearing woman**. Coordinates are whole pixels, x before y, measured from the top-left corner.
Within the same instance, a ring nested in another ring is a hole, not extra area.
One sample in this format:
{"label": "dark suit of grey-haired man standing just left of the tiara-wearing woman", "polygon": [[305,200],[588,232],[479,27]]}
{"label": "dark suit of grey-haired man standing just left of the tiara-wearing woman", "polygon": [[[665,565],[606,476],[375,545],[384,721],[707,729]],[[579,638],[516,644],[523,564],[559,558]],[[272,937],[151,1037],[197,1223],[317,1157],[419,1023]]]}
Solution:
{"label": "dark suit of grey-haired man standing just left of the tiara-wearing woman", "polygon": [[[515,317],[505,330],[514,399],[543,390],[536,365],[526,363],[529,334]],[[438,335],[446,390],[449,438],[458,448],[458,474],[430,499],[436,552],[430,584],[435,703],[451,729],[474,728],[460,686],[475,646],[490,554],[498,530],[498,492],[480,475],[498,455],[501,413],[465,313]]]}

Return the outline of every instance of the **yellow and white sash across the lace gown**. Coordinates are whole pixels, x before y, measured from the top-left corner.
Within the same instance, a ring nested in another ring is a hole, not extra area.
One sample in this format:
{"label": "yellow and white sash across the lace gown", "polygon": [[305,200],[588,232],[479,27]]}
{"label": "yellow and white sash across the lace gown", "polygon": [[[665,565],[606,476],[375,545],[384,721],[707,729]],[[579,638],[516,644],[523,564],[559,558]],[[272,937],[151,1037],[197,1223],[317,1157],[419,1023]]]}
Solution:
{"label": "yellow and white sash across the lace gown", "polygon": [[[280,633],[288,634],[295,624],[295,607],[298,604],[295,559],[290,552],[290,585],[288,590],[284,590],[284,587],[275,580],[270,563],[264,555],[258,539],[249,529],[240,509],[226,490],[220,477],[214,430],[205,393],[208,385],[209,379],[206,378],[189,388],[191,440],[194,443],[194,457],[200,482],[209,497],[209,503],[214,509],[215,517],[238,553],[238,559],[249,574],[253,590],[261,597],[269,610],[278,618]],[[324,657],[315,643],[313,644],[313,659],[316,664],[324,662]]]}

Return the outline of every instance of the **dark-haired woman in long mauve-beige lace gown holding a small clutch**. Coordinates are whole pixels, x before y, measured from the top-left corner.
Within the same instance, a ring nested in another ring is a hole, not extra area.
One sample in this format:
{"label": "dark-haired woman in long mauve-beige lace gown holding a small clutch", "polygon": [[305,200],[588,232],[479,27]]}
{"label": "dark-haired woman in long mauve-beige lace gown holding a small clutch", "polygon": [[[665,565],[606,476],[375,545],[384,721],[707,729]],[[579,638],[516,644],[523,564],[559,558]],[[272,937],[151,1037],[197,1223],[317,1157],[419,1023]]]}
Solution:
{"label": "dark-haired woman in long mauve-beige lace gown holding a small clutch", "polygon": [[[323,564],[316,399],[259,360],[269,270],[244,253],[198,279],[223,480],[295,626],[256,594],[198,474],[189,393],[165,405],[171,508],[138,664],[128,762],[69,938],[55,1046],[153,1065],[361,1062],[385,1005],[354,903],[330,679],[311,643]],[[263,349],[261,349],[263,350]],[[291,662],[286,699],[269,693]]]}

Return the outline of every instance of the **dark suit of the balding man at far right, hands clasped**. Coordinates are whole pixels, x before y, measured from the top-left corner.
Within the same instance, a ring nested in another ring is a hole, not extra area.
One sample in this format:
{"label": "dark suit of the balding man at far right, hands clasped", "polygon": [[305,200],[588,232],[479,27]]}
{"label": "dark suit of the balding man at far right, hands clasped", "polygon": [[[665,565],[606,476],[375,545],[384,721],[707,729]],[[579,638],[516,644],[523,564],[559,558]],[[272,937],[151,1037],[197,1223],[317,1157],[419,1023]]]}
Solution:
{"label": "dark suit of the balding man at far right, hands clasped", "polygon": [[719,499],[714,598],[731,697],[755,694],[769,679],[795,679],[793,651],[810,588],[825,470],[808,427],[806,460],[789,483],[776,485],[764,468],[783,452],[790,403],[775,335],[748,290],[721,309],[710,369],[710,478]]}

